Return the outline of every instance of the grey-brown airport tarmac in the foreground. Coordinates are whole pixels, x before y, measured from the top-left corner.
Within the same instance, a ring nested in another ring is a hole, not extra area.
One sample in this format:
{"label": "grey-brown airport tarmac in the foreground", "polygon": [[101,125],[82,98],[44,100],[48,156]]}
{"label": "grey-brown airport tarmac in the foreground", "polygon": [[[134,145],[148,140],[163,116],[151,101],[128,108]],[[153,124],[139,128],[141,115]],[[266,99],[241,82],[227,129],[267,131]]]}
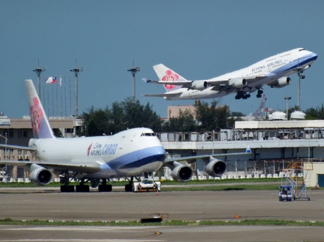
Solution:
{"label": "grey-brown airport tarmac in the foreground", "polygon": [[[310,201],[279,202],[277,191],[60,193],[0,189],[0,218],[133,221],[151,213],[172,220],[324,221],[324,191]],[[322,227],[299,226],[0,226],[2,241],[320,241]]]}

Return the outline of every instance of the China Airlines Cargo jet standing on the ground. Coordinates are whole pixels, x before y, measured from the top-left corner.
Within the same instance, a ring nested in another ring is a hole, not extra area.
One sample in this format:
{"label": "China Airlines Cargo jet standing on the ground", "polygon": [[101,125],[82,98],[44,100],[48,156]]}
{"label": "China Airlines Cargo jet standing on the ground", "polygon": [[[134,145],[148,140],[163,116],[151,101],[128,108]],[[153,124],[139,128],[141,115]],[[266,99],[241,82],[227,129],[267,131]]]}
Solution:
{"label": "China Airlines Cargo jet standing on the ground", "polygon": [[[92,187],[99,191],[111,191],[112,178],[130,178],[126,191],[133,190],[133,179],[157,171],[163,166],[172,170],[172,177],[177,181],[189,181],[192,170],[180,162],[195,162],[200,158],[206,162],[206,172],[210,176],[222,176],[226,172],[226,163],[215,156],[250,154],[246,152],[197,155],[188,157],[166,158],[166,151],[151,129],[134,128],[121,131],[112,136],[57,138],[54,136],[49,120],[36,93],[32,80],[25,80],[33,139],[28,147],[0,144],[0,147],[29,150],[37,161],[1,160],[0,165],[19,166],[29,172],[29,179],[36,185],[47,185],[52,181],[52,174],[61,176],[62,192],[74,192],[69,185],[71,179],[80,184],[77,192],[89,191]],[[101,183],[101,184],[100,184]]]}

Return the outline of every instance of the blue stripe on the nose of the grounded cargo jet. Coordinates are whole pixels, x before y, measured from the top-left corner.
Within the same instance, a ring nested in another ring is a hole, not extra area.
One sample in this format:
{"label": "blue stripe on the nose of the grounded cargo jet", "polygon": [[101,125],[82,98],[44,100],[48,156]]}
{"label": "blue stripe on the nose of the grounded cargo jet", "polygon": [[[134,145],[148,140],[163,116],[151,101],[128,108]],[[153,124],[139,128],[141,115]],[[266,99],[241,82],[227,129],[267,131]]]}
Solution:
{"label": "blue stripe on the nose of the grounded cargo jet", "polygon": [[107,165],[113,170],[138,168],[157,160],[164,162],[165,155],[166,151],[163,146],[154,146],[119,156]]}

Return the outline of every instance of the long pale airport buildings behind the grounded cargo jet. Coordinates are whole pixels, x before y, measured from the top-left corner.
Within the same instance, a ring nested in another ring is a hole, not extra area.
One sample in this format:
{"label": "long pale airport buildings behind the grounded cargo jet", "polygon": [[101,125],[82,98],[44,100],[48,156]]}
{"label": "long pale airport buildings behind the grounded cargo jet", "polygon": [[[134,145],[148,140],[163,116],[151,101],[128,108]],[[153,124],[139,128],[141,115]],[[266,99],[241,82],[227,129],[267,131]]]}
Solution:
{"label": "long pale airport buildings behind the grounded cargo jet", "polygon": [[[82,120],[53,117],[50,124],[56,134],[73,137]],[[0,116],[0,135],[6,134],[8,144],[28,145],[32,138],[30,117]],[[227,178],[280,177],[282,169],[292,162],[310,160],[312,170],[307,174],[306,185],[324,187],[324,120],[239,121],[234,129],[220,132],[158,133],[157,136],[169,155],[242,152],[249,145],[252,150],[249,155],[220,157],[227,162]],[[5,143],[4,138],[0,140]],[[35,160],[35,157],[29,151],[9,149],[6,153],[1,149],[0,159]],[[206,178],[202,161],[193,170],[194,177]],[[14,167],[10,171],[12,180],[26,178],[23,169]]]}

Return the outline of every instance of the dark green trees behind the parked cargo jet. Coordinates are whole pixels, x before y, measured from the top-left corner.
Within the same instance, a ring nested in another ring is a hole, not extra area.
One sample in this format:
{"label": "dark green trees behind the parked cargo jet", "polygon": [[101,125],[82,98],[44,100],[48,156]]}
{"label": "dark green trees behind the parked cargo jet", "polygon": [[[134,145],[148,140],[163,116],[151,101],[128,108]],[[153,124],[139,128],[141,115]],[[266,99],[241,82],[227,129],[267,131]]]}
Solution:
{"label": "dark green trees behind the parked cargo jet", "polygon": [[[121,102],[112,103],[111,107],[91,107],[83,112],[80,118],[83,119],[82,129],[78,135],[102,136],[111,135],[120,131],[146,127],[154,132],[203,132],[220,131],[221,129],[232,129],[240,112],[230,112],[229,106],[217,106],[218,102],[213,100],[195,103],[195,111],[179,111],[177,117],[171,117],[165,121],[147,103],[142,105],[139,100],[126,98]],[[297,110],[297,107],[289,109],[289,113]],[[324,106],[309,108],[306,111],[306,119],[324,119]]]}

